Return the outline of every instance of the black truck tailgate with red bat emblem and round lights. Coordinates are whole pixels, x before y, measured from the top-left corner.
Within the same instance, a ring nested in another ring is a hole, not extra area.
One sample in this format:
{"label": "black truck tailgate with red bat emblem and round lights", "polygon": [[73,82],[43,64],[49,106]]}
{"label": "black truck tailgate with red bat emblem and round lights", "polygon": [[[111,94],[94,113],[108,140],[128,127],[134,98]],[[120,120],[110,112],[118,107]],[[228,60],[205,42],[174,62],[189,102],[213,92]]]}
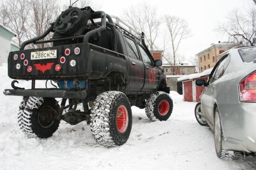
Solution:
{"label": "black truck tailgate with red bat emblem and round lights", "polygon": [[[74,53],[76,47],[79,54]],[[26,80],[84,78],[90,73],[89,53],[88,43],[12,51],[8,57],[8,76]]]}

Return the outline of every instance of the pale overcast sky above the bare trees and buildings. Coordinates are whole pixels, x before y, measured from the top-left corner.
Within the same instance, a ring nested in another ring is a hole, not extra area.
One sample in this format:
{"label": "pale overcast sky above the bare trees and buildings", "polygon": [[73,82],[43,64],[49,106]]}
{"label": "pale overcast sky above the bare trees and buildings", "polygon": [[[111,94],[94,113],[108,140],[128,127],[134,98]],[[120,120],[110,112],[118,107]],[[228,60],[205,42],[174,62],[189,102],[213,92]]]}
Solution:
{"label": "pale overcast sky above the bare trees and buildings", "polygon": [[[100,10],[121,18],[123,11],[140,0],[91,0]],[[212,43],[227,41],[228,38],[214,31],[216,25],[226,20],[230,11],[238,8],[245,10],[254,5],[253,0],[147,0],[158,9],[158,14],[176,15],[186,19],[192,31],[192,37],[185,39],[178,53],[186,60],[200,51],[210,47]],[[159,40],[159,39],[158,39]],[[161,38],[160,38],[161,40]],[[158,41],[160,47],[161,42]]]}

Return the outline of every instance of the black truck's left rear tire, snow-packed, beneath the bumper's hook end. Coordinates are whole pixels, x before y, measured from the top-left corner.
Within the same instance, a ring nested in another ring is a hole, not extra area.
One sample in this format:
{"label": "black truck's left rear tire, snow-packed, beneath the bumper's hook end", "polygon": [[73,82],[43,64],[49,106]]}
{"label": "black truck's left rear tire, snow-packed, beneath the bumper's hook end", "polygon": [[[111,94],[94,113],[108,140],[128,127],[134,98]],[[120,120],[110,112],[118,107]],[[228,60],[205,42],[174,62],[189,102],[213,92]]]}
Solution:
{"label": "black truck's left rear tire, snow-packed, beneath the bumper's hook end", "polygon": [[[59,106],[56,100],[50,99],[44,101],[43,98],[29,97],[24,98],[20,104],[20,109],[18,111],[18,125],[20,129],[28,137],[39,137],[48,138],[58,129],[60,121],[53,118],[46,118],[46,121],[42,121],[44,113],[37,113],[28,111],[26,109],[55,109],[58,110]],[[41,121],[40,121],[41,120]]]}

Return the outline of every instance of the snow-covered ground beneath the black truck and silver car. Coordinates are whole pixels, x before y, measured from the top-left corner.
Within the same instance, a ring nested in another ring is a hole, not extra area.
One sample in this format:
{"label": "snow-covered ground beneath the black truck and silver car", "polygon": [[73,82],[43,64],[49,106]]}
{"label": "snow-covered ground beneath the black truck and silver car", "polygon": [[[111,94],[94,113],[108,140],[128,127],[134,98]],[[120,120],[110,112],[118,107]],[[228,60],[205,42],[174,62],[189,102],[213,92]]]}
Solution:
{"label": "snow-covered ground beneath the black truck and silver car", "polygon": [[[18,128],[21,97],[4,96],[11,79],[0,67],[0,169],[255,169],[256,158],[220,160],[209,127],[194,117],[194,102],[171,92],[174,109],[168,121],[150,122],[144,109],[132,107],[132,132],[121,147],[105,148],[94,141],[86,122],[64,121],[48,139],[28,139]],[[29,88],[30,83],[20,81]],[[37,83],[44,86],[44,83]]]}

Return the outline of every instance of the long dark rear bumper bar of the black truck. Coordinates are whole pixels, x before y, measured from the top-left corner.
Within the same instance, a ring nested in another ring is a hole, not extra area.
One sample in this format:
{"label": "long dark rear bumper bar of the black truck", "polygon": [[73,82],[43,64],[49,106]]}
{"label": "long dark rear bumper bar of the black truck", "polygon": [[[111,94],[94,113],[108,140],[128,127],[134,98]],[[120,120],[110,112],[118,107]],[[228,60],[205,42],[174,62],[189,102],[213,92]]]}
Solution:
{"label": "long dark rear bumper bar of the black truck", "polygon": [[67,99],[85,99],[86,90],[66,90],[66,89],[5,89],[6,96],[34,96],[44,98],[67,98]]}

